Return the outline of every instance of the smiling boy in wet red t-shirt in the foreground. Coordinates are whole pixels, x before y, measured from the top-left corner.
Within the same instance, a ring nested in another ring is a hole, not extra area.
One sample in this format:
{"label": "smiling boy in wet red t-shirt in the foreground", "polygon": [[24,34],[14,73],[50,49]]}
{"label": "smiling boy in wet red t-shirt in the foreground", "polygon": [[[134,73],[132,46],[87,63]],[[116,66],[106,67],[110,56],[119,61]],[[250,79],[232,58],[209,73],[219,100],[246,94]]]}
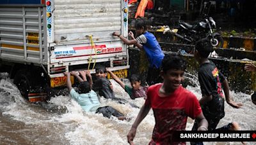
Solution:
{"label": "smiling boy in wet red t-shirt in the foreground", "polygon": [[149,144],[185,144],[173,142],[172,131],[185,130],[188,116],[200,120],[198,130],[207,130],[208,123],[196,96],[180,85],[185,69],[184,59],[177,55],[165,55],[161,71],[164,81],[148,88],[145,104],[127,135],[129,144],[133,144],[136,129],[151,107],[156,125]]}

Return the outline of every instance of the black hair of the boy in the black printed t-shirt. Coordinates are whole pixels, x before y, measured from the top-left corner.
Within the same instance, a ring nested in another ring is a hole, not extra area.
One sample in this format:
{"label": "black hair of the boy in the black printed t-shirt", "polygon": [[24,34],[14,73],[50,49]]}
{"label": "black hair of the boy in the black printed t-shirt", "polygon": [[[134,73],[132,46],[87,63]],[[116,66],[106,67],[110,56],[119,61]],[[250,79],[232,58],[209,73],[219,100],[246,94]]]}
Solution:
{"label": "black hair of the boy in the black printed t-shirt", "polygon": [[208,39],[200,39],[196,42],[195,49],[198,51],[200,57],[207,59],[209,54],[213,52],[213,47]]}

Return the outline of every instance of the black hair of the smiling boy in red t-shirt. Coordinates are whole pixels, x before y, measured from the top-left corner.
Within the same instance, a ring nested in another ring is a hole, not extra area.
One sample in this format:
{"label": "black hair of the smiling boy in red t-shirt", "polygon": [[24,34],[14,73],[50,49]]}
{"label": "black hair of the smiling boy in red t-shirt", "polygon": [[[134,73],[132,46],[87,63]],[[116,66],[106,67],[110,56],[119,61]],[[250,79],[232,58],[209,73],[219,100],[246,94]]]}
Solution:
{"label": "black hair of the smiling boy in red t-shirt", "polygon": [[187,62],[177,54],[165,54],[162,61],[162,70],[167,72],[170,69],[178,69],[185,71],[187,68]]}

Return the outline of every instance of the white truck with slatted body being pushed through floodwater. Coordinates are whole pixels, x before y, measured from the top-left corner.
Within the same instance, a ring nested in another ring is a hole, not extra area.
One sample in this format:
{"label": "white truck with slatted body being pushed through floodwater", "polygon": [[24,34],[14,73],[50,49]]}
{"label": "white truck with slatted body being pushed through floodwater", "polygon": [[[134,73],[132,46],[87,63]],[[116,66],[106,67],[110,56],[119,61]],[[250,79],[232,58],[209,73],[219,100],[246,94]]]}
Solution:
{"label": "white truck with slatted body being pushed through floodwater", "polygon": [[65,85],[63,72],[104,64],[127,77],[127,0],[1,0],[0,70],[22,95]]}

